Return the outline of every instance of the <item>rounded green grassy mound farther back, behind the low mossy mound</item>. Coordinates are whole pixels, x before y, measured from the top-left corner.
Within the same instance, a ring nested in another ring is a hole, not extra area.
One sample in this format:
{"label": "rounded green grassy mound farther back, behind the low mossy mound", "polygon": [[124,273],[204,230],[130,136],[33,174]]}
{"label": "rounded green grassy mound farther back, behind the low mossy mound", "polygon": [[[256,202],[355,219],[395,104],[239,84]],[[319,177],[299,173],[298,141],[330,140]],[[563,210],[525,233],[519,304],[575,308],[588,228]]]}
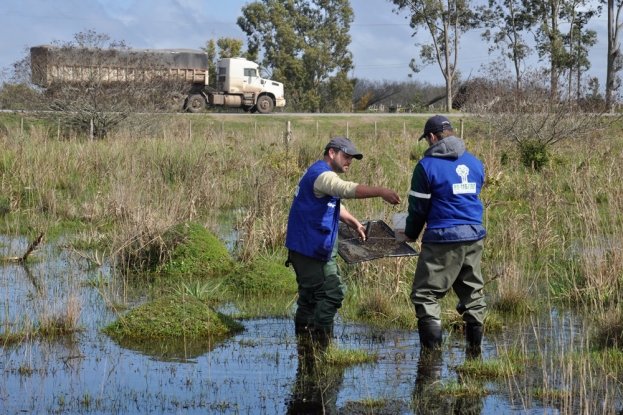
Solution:
{"label": "rounded green grassy mound farther back, behind the low mossy mound", "polygon": [[158,269],[171,276],[211,277],[233,269],[227,248],[203,226],[180,223],[162,236],[168,247],[168,258]]}

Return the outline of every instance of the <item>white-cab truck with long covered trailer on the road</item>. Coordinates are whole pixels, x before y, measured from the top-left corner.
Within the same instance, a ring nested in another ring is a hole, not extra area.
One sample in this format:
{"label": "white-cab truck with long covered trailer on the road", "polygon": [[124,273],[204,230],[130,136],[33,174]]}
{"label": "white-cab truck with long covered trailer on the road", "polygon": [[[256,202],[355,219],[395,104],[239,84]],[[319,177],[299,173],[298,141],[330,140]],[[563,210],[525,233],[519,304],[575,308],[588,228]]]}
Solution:
{"label": "white-cab truck with long covered trailer on the road", "polygon": [[216,64],[209,85],[208,54],[193,49],[89,49],[39,45],[30,48],[31,80],[41,88],[96,79],[142,82],[163,77],[185,85],[170,97],[180,110],[199,113],[207,104],[267,114],[286,104],[283,84],[264,79],[259,65],[244,58]]}

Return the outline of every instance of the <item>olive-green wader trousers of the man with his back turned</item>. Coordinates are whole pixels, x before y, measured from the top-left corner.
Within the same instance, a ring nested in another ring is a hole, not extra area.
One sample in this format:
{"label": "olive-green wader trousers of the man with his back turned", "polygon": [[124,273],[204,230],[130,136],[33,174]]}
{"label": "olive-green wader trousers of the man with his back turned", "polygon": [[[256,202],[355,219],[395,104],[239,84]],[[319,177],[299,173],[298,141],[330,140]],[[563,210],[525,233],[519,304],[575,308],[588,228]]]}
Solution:
{"label": "olive-green wader trousers of the man with his back turned", "polygon": [[487,306],[480,270],[483,240],[445,244],[423,243],[415,268],[411,302],[418,321],[441,320],[441,300],[450,288],[466,323],[483,323]]}

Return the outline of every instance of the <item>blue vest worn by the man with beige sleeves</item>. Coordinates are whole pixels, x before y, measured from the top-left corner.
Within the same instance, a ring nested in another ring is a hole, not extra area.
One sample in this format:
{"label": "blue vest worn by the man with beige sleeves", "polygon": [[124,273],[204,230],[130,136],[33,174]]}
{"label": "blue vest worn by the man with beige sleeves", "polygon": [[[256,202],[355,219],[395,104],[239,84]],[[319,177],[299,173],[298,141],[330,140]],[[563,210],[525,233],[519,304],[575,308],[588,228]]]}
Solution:
{"label": "blue vest worn by the man with beige sleeves", "polygon": [[286,247],[303,255],[329,262],[337,239],[340,220],[340,198],[314,195],[314,182],[322,173],[331,171],[318,160],[303,174],[294,192],[288,216]]}

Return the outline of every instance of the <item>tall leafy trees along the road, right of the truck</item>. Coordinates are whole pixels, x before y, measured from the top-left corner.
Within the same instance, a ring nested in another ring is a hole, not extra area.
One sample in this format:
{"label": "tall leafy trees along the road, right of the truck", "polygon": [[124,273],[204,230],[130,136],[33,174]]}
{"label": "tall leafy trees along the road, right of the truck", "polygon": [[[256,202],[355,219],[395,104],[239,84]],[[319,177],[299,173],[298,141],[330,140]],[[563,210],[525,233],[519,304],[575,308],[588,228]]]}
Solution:
{"label": "tall leafy trees along the road, right of the truck", "polygon": [[[581,99],[593,94],[597,80],[582,77],[591,65],[589,49],[597,43],[597,34],[588,23],[601,16],[605,7],[605,105],[610,111],[614,107],[620,87],[618,72],[623,67],[618,41],[623,0],[489,0],[486,5],[474,0],[387,2],[393,4],[394,13],[405,15],[414,35],[420,31],[430,35],[430,42],[415,45],[419,56],[409,66],[414,73],[426,65],[439,67],[445,79],[447,108],[453,107],[460,86],[461,37],[483,28],[490,52],[499,51],[512,64],[517,89],[522,88],[527,58],[536,53],[547,62],[552,98]],[[348,50],[353,19],[348,0],[257,0],[242,8],[238,25],[247,35],[249,54],[257,57],[262,52],[263,66],[288,86],[287,98],[293,109],[324,111],[328,107],[339,111],[361,104],[357,99],[353,102],[355,86],[361,80],[348,77],[353,69]]]}

